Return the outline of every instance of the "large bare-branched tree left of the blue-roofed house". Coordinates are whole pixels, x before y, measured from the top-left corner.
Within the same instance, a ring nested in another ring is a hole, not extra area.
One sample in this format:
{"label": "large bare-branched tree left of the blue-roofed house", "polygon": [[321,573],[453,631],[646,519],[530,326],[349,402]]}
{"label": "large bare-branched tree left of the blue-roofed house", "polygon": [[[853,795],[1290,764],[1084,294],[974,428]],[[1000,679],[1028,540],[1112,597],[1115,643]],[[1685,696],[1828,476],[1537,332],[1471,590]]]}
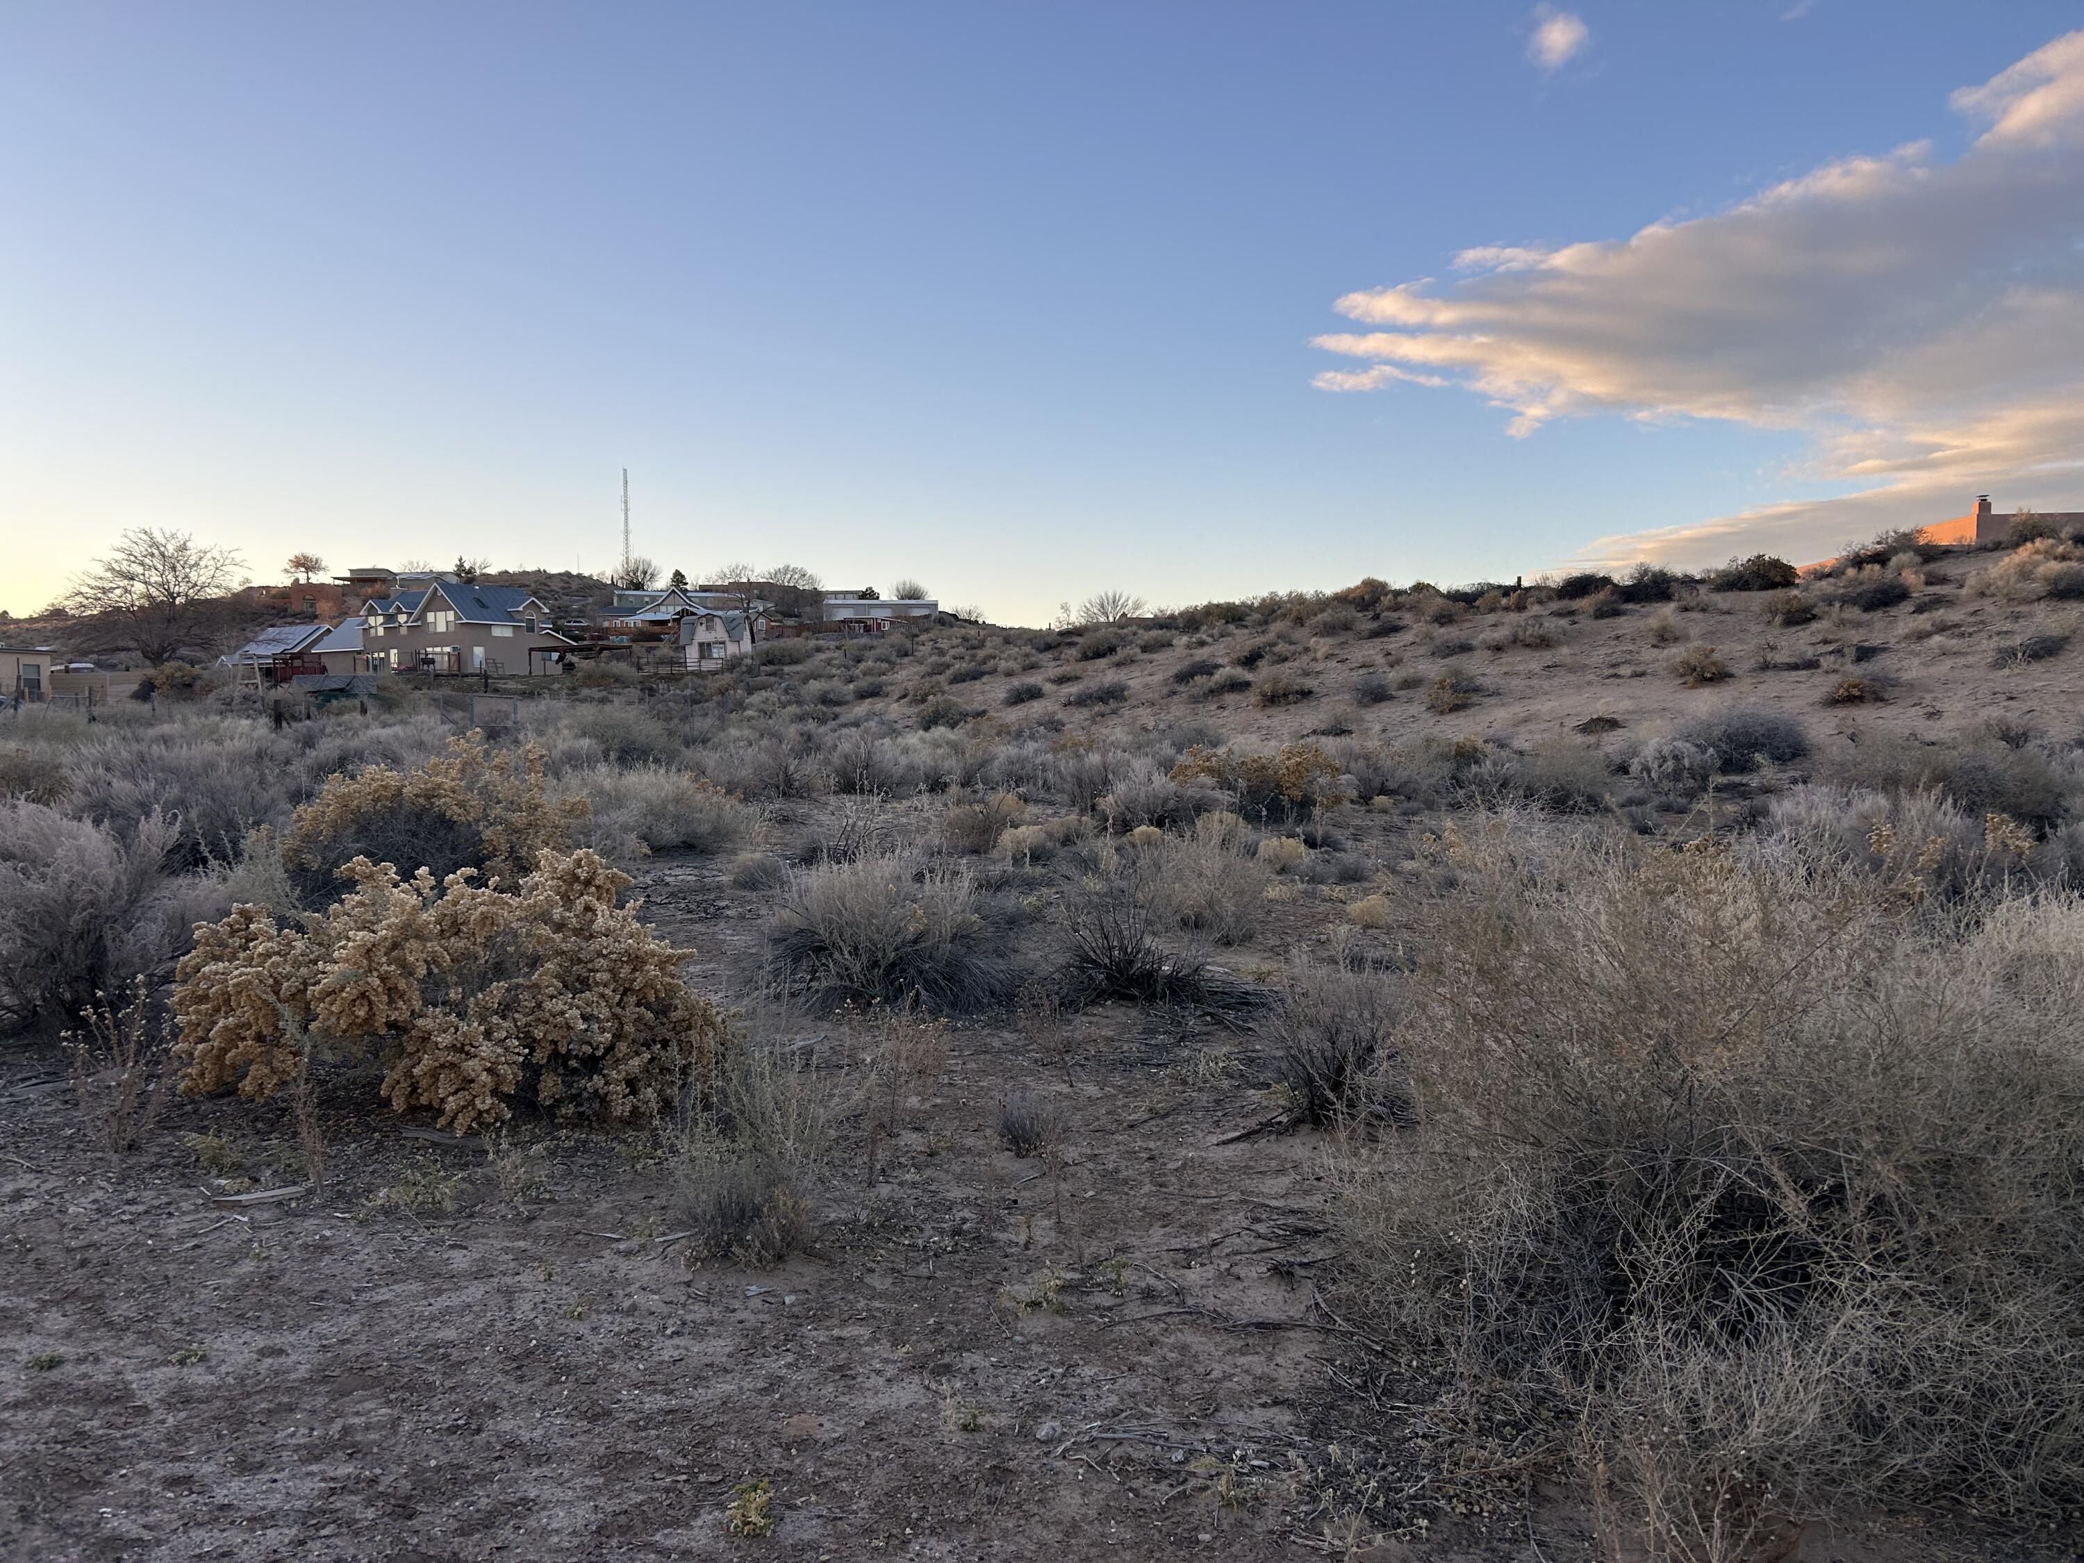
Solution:
{"label": "large bare-branched tree left of the blue-roofed house", "polygon": [[65,606],[92,619],[85,640],[94,648],[171,663],[223,631],[229,619],[223,598],[240,584],[242,569],[231,548],[198,544],[185,531],[133,527],[108,559],[94,561],[73,581]]}

